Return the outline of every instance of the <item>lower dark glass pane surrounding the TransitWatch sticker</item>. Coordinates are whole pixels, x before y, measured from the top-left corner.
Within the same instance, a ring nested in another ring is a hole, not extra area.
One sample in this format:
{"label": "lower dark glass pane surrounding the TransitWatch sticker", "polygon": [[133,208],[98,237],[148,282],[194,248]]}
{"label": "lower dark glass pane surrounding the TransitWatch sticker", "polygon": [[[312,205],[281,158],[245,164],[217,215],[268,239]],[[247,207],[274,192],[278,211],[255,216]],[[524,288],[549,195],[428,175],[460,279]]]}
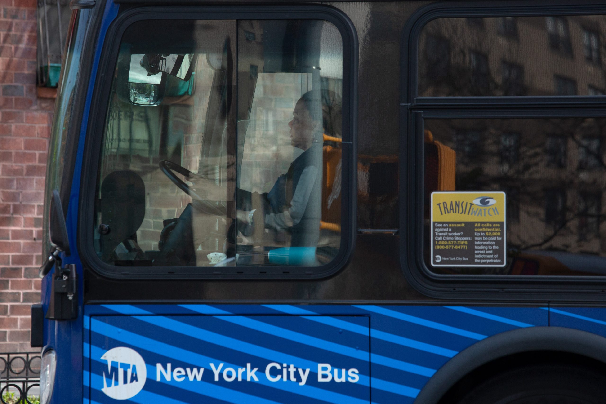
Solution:
{"label": "lower dark glass pane surrounding the TransitWatch sticker", "polygon": [[[427,268],[446,274],[606,275],[605,138],[602,118],[425,119]],[[453,179],[444,180],[452,172]],[[455,190],[505,192],[505,268],[431,267],[429,196]]]}

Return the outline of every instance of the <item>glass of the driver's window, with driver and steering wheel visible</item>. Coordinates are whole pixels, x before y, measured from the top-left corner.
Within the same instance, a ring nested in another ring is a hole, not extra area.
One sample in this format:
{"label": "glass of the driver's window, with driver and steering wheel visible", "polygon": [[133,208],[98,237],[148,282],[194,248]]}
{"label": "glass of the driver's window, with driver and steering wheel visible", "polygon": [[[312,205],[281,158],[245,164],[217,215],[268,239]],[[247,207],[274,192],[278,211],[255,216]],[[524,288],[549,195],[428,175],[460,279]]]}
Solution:
{"label": "glass of the driver's window, with driver and steering wheel visible", "polygon": [[122,38],[99,167],[98,256],[118,266],[330,262],[341,245],[338,29],[164,26],[136,22]]}

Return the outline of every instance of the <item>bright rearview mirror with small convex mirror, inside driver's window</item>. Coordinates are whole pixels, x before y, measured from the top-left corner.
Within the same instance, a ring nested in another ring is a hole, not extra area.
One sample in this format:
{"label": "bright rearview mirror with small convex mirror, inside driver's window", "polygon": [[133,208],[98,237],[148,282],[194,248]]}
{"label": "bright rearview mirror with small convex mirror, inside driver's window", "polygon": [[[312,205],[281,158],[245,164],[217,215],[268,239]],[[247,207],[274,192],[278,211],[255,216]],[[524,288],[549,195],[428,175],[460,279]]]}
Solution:
{"label": "bright rearview mirror with small convex mirror, inside driver's window", "polygon": [[128,101],[135,105],[158,105],[164,98],[166,77],[164,73],[148,73],[143,67],[146,55],[130,55],[128,69]]}

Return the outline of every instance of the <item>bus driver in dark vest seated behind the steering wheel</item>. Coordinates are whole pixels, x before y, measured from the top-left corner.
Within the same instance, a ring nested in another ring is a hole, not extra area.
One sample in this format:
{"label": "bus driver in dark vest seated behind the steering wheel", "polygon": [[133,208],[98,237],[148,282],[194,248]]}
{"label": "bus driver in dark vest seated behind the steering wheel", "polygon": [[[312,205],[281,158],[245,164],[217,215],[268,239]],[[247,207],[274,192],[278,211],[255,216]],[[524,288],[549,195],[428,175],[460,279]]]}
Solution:
{"label": "bus driver in dark vest seated behind the steering wheel", "polygon": [[[295,105],[290,144],[303,150],[268,193],[236,191],[238,228],[251,234],[265,228],[290,233],[291,247],[316,247],[322,213],[322,144],[324,130],[340,134],[341,102],[333,91],[308,91]],[[260,200],[261,203],[253,201]],[[253,209],[260,206],[260,208]]]}

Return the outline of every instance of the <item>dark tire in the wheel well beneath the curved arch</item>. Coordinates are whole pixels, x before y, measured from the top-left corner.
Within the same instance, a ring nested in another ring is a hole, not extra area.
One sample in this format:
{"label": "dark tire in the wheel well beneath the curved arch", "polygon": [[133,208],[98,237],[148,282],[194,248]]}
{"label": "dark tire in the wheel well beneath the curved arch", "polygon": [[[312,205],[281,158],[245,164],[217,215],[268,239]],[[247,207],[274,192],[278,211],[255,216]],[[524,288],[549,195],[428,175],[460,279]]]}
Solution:
{"label": "dark tire in the wheel well beneath the curved arch", "polygon": [[603,404],[606,375],[576,365],[529,365],[498,374],[458,404]]}

